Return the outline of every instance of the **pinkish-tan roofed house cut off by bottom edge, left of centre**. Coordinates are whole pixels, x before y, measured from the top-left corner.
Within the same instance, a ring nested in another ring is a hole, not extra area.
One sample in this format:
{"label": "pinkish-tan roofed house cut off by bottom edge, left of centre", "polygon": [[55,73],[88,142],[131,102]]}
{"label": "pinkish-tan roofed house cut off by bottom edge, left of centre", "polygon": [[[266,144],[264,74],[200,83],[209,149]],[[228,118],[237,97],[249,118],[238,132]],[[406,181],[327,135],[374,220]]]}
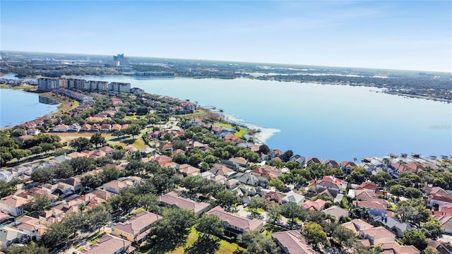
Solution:
{"label": "pinkish-tan roofed house cut off by bottom edge, left of centre", "polygon": [[105,234],[93,246],[83,250],[83,254],[131,254],[135,253],[135,247],[131,241]]}

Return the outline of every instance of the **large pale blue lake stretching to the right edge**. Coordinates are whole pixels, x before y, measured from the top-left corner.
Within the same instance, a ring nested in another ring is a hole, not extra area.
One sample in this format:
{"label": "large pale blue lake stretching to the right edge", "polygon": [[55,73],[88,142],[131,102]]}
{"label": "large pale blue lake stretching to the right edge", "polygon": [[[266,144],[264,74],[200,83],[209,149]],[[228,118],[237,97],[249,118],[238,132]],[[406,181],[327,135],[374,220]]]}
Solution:
{"label": "large pale blue lake stretching to the right edge", "polygon": [[386,95],[374,87],[246,78],[83,78],[131,83],[146,92],[215,106],[231,120],[261,128],[260,138],[271,148],[304,157],[342,161],[390,152],[452,152],[451,104]]}

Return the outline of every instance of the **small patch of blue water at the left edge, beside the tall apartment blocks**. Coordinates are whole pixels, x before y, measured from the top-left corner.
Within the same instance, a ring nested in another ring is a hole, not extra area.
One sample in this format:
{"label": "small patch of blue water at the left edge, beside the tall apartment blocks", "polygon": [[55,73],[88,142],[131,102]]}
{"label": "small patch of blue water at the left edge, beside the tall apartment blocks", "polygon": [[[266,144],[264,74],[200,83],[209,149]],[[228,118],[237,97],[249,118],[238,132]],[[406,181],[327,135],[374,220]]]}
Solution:
{"label": "small patch of blue water at the left edge, beside the tall apartment blocks", "polygon": [[39,95],[22,90],[0,89],[0,128],[16,126],[58,110],[59,104],[44,104]]}

